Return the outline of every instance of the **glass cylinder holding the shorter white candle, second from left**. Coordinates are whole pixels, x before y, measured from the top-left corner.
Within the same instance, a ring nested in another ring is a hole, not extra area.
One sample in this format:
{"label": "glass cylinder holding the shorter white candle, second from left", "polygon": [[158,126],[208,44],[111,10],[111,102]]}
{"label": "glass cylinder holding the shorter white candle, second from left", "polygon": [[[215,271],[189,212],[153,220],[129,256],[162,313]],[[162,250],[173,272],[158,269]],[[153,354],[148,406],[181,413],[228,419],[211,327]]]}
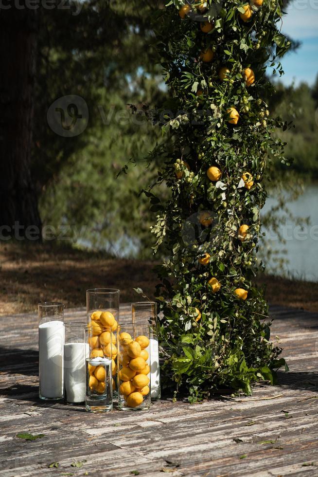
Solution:
{"label": "glass cylinder holding the shorter white candle, second from left", "polygon": [[85,328],[86,323],[64,324],[64,389],[68,404],[85,403],[85,360],[89,356]]}

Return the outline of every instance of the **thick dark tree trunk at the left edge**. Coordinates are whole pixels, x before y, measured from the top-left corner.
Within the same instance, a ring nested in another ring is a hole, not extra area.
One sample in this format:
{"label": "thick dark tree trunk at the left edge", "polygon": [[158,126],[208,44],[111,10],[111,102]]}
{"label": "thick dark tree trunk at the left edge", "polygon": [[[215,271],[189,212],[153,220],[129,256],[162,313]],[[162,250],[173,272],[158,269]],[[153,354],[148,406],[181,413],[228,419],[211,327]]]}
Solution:
{"label": "thick dark tree trunk at the left edge", "polygon": [[38,13],[30,3],[6,5],[0,13],[0,237],[35,240],[41,220],[30,165]]}

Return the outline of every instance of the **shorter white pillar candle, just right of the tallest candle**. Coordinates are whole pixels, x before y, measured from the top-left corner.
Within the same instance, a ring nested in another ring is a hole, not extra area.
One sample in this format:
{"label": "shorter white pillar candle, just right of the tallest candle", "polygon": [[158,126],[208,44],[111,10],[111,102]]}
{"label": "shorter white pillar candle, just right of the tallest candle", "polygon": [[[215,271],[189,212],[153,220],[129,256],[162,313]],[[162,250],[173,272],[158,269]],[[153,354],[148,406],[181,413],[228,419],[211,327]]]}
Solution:
{"label": "shorter white pillar candle, just right of the tallest candle", "polygon": [[68,403],[84,403],[88,343],[64,345],[64,386]]}

